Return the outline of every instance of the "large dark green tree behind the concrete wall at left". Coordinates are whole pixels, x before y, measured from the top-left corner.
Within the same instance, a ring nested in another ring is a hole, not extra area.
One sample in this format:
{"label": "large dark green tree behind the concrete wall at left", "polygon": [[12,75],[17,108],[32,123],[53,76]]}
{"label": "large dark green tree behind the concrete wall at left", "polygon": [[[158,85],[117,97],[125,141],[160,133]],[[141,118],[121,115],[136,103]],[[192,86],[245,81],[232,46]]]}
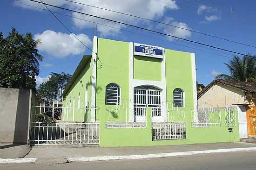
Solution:
{"label": "large dark green tree behind the concrete wall at left", "polygon": [[32,88],[35,90],[35,76],[39,73],[39,61],[43,57],[36,49],[40,40],[34,40],[31,33],[25,36],[15,28],[6,38],[0,32],[0,87]]}

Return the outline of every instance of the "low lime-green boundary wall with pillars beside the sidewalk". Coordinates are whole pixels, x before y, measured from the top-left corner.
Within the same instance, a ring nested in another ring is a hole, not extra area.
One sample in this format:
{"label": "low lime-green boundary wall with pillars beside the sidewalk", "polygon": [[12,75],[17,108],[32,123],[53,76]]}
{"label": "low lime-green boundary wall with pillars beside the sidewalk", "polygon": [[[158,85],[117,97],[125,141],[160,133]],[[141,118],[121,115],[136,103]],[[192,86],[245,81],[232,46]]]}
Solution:
{"label": "low lime-green boundary wall with pillars beside the sidewalk", "polygon": [[[149,114],[148,114],[149,113]],[[224,110],[221,111],[222,118]],[[237,112],[236,112],[237,117]],[[106,117],[101,115],[100,121],[100,146],[101,147],[118,147],[118,146],[153,146],[153,145],[185,145],[185,144],[202,144],[217,142],[236,142],[239,141],[238,120],[236,126],[224,126],[222,119],[221,127],[191,127],[190,116],[186,117],[186,139],[158,140],[152,141],[151,112],[147,108],[147,128],[142,129],[107,129],[105,127]],[[233,128],[233,132],[228,129]]]}

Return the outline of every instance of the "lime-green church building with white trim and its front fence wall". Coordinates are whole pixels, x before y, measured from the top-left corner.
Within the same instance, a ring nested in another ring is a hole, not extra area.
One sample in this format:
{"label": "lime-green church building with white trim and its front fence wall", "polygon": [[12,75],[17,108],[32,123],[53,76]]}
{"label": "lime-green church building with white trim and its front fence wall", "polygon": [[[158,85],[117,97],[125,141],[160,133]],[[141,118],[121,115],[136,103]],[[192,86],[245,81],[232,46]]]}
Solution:
{"label": "lime-green church building with white trim and its front fence wall", "polygon": [[235,107],[197,106],[195,53],[94,37],[63,98],[64,145],[239,141]]}

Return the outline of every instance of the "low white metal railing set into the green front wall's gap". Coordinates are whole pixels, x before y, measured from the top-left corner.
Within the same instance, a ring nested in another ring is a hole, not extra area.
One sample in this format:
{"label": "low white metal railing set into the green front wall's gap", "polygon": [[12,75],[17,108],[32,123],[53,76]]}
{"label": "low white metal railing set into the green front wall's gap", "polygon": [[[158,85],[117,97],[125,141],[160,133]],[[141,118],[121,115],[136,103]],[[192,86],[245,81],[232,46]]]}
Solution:
{"label": "low white metal railing set into the green front wall's gap", "polygon": [[152,129],[153,140],[186,139],[185,123],[156,123]]}

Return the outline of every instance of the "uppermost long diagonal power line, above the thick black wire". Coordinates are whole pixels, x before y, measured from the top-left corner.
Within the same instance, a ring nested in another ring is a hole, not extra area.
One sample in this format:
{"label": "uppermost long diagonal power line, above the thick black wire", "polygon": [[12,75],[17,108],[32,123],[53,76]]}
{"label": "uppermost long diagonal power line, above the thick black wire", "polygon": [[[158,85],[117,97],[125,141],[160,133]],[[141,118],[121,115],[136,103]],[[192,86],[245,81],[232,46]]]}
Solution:
{"label": "uppermost long diagonal power line, above the thick black wire", "polygon": [[[229,41],[229,42],[232,42],[232,43],[246,45],[246,46],[249,46],[249,47],[256,48],[256,46],[254,46],[254,45],[240,43],[240,42],[233,41],[233,40],[230,40],[230,39],[227,39],[227,38],[217,37],[215,35],[211,35],[211,34],[207,34],[207,33],[202,33],[200,31],[190,30],[190,29],[187,29],[187,28],[182,28],[182,27],[179,27],[179,26],[176,26],[176,25],[171,25],[171,24],[168,24],[168,23],[163,23],[163,22],[156,21],[156,20],[153,20],[153,19],[146,19],[146,18],[139,17],[139,16],[136,16],[136,15],[132,15],[132,14],[128,14],[128,13],[122,13],[122,12],[118,12],[118,11],[114,11],[114,10],[110,10],[110,9],[106,9],[106,8],[101,8],[101,7],[98,7],[98,6],[92,6],[92,5],[88,5],[88,4],[83,4],[81,2],[75,2],[75,1],[72,1],[72,0],[66,0],[66,1],[73,2],[73,3],[76,3],[76,4],[80,4],[80,5],[84,5],[84,6],[90,6],[90,7],[106,10],[106,11],[113,12],[113,13],[119,13],[119,14],[131,16],[131,17],[135,17],[135,18],[139,18],[139,19],[144,19],[144,20],[148,20],[148,21],[155,22],[155,23],[158,23],[158,24],[168,25],[168,26],[172,26],[172,27],[179,28],[179,29],[182,29],[182,30],[187,30],[187,31],[199,33],[199,34],[202,34],[202,35],[205,35],[205,36],[209,36],[209,37],[213,37],[213,38],[218,38],[218,39],[222,39],[222,40]],[[157,1],[159,1],[159,0],[157,0]],[[162,2],[162,1],[159,1],[159,2]],[[162,2],[162,3],[164,3],[164,2]]]}

